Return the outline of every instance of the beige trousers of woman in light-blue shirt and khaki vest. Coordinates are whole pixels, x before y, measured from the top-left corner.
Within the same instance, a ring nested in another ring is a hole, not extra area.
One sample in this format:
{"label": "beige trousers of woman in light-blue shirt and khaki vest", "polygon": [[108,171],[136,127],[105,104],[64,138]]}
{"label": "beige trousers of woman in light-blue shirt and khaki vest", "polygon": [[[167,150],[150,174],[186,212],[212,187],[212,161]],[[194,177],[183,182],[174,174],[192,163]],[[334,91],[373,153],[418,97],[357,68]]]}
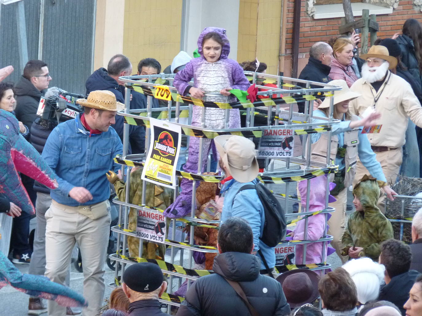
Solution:
{"label": "beige trousers of woman in light-blue shirt and khaki vest", "polygon": [[335,209],[334,212],[330,213],[331,217],[328,220],[328,235],[333,236],[330,246],[335,249],[335,253],[341,259],[342,263],[346,263],[348,259],[348,256],[341,255],[341,250],[344,247],[341,243],[341,238],[343,237],[344,228],[346,227],[347,190],[348,188],[341,190],[338,195],[335,196],[337,201],[328,204],[328,206]]}

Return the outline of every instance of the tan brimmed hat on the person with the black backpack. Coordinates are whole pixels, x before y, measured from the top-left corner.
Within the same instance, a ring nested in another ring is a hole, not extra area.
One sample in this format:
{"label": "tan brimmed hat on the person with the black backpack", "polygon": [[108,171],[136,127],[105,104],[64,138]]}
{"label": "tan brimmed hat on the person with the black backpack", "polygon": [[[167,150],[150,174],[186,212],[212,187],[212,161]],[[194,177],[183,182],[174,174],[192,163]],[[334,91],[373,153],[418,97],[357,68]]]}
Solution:
{"label": "tan brimmed hat on the person with the black backpack", "polygon": [[252,140],[238,135],[219,135],[214,143],[233,179],[246,183],[257,177],[260,169]]}

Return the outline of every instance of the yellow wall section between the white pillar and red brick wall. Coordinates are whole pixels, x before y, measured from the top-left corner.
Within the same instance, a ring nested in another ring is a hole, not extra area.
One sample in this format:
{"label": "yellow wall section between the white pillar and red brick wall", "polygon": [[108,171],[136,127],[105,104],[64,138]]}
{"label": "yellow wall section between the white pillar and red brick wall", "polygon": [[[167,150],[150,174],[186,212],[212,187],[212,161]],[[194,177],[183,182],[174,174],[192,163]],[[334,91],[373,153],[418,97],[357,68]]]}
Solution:
{"label": "yellow wall section between the white pillar and red brick wall", "polygon": [[265,62],[278,74],[282,0],[240,0],[238,62]]}

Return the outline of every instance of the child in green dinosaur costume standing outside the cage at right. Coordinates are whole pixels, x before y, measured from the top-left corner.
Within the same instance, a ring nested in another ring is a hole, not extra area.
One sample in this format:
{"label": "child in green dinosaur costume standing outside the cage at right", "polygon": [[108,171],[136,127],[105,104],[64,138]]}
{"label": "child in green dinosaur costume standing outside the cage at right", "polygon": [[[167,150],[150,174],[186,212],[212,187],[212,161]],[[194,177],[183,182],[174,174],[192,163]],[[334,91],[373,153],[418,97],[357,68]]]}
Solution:
{"label": "child in green dinosaur costume standing outside the cage at right", "polygon": [[377,206],[380,195],[377,180],[365,174],[354,186],[353,195],[356,212],[350,215],[343,233],[342,255],[349,255],[349,259],[370,257],[378,261],[379,245],[393,238],[393,229]]}

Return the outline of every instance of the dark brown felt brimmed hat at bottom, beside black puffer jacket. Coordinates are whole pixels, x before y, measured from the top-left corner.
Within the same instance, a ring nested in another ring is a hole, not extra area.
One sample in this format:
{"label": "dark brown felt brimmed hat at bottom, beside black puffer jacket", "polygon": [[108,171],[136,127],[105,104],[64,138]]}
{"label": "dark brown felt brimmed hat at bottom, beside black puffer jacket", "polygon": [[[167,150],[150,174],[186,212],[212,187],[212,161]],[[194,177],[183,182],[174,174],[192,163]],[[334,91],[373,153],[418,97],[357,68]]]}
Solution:
{"label": "dark brown felt brimmed hat at bottom, beside black puffer jacket", "polygon": [[291,309],[306,303],[313,303],[319,297],[319,276],[312,270],[290,270],[280,274],[277,281],[280,282]]}

